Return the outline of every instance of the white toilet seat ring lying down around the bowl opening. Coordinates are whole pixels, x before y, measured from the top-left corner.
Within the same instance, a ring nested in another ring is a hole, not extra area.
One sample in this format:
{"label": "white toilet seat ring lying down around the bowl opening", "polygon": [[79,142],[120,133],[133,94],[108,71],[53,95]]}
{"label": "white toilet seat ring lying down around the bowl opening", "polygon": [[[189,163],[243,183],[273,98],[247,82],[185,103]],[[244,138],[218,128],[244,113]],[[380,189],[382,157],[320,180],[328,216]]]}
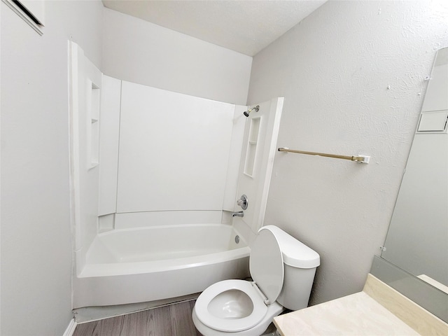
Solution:
{"label": "white toilet seat ring lying down around the bowl opening", "polygon": [[[252,301],[253,310],[251,314],[243,318],[220,318],[211,314],[209,304],[221,293],[230,290],[239,290],[245,293]],[[195,304],[197,318],[209,328],[224,332],[238,332],[253,328],[267,313],[267,306],[258,290],[253,284],[244,280],[224,280],[214,283],[204,290],[197,298]]]}

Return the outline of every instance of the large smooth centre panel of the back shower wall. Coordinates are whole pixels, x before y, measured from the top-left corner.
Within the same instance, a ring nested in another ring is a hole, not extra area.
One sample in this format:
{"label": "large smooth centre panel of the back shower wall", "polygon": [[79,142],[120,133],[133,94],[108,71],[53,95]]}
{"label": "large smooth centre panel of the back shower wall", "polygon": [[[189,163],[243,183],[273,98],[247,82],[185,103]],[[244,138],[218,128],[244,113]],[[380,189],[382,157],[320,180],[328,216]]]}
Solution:
{"label": "large smooth centre panel of the back shower wall", "polygon": [[117,212],[222,210],[234,111],[123,81]]}

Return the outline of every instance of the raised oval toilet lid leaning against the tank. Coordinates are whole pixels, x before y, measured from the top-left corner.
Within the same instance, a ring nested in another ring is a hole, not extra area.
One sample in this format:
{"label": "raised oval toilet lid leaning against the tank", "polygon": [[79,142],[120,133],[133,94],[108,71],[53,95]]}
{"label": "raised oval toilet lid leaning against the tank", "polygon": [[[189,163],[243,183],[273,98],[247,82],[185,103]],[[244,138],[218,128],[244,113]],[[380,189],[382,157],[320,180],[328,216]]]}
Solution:
{"label": "raised oval toilet lid leaning against the tank", "polygon": [[275,302],[283,287],[283,255],[270,230],[258,231],[251,249],[249,269],[253,281],[269,300],[267,303]]}

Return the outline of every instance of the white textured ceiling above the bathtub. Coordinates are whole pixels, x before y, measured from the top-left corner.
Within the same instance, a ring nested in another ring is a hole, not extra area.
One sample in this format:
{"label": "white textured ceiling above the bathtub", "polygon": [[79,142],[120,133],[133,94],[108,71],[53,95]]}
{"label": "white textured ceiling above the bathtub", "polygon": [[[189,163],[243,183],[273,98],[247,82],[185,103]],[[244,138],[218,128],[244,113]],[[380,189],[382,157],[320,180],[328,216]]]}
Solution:
{"label": "white textured ceiling above the bathtub", "polygon": [[253,56],[325,0],[102,0],[104,6]]}

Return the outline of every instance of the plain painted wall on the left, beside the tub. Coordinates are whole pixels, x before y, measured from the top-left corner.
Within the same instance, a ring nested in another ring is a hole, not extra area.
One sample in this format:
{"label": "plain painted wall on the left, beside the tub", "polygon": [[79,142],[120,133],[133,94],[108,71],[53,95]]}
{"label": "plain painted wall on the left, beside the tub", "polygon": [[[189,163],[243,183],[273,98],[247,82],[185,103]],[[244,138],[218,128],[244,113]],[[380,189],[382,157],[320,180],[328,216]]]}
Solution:
{"label": "plain painted wall on the left, beside the tub", "polygon": [[38,36],[1,3],[1,335],[71,314],[68,43],[101,66],[100,1],[45,1]]}

